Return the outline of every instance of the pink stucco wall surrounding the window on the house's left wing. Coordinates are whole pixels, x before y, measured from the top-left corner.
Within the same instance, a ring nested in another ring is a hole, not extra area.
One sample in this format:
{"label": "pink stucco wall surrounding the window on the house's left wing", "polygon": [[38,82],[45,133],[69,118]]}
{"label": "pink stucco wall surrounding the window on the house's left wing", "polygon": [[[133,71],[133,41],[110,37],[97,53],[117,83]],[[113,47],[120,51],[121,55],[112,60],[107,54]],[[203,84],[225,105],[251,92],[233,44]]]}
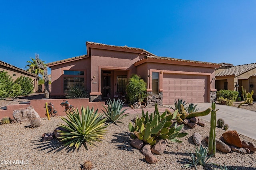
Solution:
{"label": "pink stucco wall surrounding the window on the house's left wing", "polygon": [[[87,90],[90,90],[91,84],[91,59],[84,58],[76,61],[70,61],[68,63],[58,64],[51,66],[52,74],[52,91],[51,96],[63,96],[64,88],[64,70],[80,70],[84,71],[84,80]],[[66,76],[66,75],[65,75]]]}

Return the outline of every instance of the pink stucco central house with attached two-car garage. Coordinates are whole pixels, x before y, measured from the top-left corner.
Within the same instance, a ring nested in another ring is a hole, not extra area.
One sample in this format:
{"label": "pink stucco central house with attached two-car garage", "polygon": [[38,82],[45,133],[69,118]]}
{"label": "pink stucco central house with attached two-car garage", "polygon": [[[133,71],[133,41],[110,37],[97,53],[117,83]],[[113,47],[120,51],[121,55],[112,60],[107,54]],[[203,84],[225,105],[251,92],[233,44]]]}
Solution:
{"label": "pink stucco central house with attached two-car garage", "polygon": [[132,74],[147,83],[148,105],[211,102],[216,95],[214,69],[221,64],[157,57],[140,48],[86,42],[87,55],[48,63],[52,74],[51,98],[65,90],[86,86],[90,101],[102,101],[126,94]]}

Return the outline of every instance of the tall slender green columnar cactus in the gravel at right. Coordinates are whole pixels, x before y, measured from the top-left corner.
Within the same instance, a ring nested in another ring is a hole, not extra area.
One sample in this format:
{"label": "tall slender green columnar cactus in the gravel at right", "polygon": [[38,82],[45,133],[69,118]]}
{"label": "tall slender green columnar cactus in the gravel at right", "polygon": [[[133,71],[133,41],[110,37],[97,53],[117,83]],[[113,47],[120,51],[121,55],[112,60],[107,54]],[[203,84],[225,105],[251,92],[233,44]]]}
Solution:
{"label": "tall slender green columnar cactus in the gravel at right", "polygon": [[210,133],[209,133],[209,140],[208,140],[208,154],[212,154],[213,157],[215,157],[215,153],[216,153],[216,133],[215,133],[215,129],[216,129],[216,111],[218,111],[218,109],[215,110],[216,104],[215,102],[212,102],[212,111],[211,111],[211,127],[210,127]]}

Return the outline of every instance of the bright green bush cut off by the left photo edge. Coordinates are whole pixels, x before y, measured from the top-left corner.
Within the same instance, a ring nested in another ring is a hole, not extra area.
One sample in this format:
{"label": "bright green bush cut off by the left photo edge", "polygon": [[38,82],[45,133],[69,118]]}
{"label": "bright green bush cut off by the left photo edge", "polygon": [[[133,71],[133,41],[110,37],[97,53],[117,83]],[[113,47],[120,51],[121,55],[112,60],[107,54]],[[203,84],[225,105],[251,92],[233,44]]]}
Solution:
{"label": "bright green bush cut off by the left photo edge", "polygon": [[12,90],[12,77],[6,71],[0,72],[0,98],[7,98]]}

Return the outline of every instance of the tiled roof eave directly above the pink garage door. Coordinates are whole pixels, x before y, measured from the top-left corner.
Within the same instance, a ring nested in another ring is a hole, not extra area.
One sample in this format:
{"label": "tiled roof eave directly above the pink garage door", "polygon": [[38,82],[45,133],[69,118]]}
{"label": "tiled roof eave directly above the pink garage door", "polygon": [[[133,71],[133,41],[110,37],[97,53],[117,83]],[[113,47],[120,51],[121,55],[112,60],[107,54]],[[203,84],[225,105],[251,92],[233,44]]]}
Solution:
{"label": "tiled roof eave directly above the pink garage door", "polygon": [[[134,63],[135,66],[138,66],[142,63],[145,63],[147,61],[150,61],[150,59],[153,60],[159,60],[159,61],[174,61],[174,62],[178,62],[180,64],[206,64],[210,67],[214,67],[214,68],[219,68],[221,66],[221,64],[218,63],[210,63],[210,62],[202,62],[202,61],[193,61],[193,60],[185,60],[185,59],[175,59],[175,58],[170,58],[170,57],[158,57],[158,56],[145,56],[144,59],[141,59],[140,61],[137,61],[136,63]],[[176,64],[176,63],[174,63]]]}

